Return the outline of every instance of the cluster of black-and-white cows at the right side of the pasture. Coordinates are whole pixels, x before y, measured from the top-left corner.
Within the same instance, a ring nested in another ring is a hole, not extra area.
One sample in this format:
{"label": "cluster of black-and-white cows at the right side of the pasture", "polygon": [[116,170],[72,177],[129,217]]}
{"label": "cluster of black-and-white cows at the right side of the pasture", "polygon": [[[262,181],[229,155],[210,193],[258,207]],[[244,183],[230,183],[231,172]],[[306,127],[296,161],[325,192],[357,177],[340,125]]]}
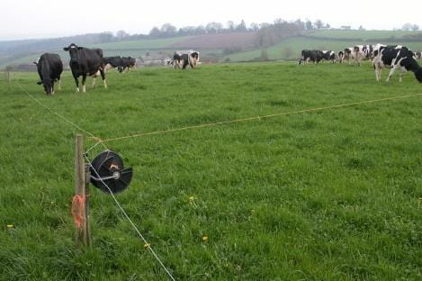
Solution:
{"label": "cluster of black-and-white cows at the right side of the pasture", "polygon": [[362,60],[369,59],[372,61],[377,81],[381,80],[382,68],[391,68],[387,81],[390,80],[391,75],[396,70],[400,70],[400,82],[403,73],[412,71],[419,83],[422,83],[422,68],[418,65],[418,59],[420,60],[421,57],[420,51],[414,52],[400,45],[357,45],[340,50],[337,53],[333,50],[302,50],[299,64],[308,64],[310,61],[319,63],[322,60],[328,60],[332,63],[343,63],[345,61],[350,63],[353,60],[354,65],[360,66]]}

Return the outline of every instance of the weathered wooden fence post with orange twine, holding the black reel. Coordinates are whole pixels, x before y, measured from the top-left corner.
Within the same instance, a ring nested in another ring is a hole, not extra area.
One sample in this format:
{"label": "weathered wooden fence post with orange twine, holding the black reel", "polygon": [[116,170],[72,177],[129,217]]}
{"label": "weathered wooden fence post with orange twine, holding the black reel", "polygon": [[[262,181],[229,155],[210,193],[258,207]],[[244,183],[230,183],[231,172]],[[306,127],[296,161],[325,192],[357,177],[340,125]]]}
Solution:
{"label": "weathered wooden fence post with orange twine, holding the black reel", "polygon": [[77,213],[80,214],[82,223],[80,225],[76,223],[76,243],[78,245],[89,246],[91,244],[91,231],[89,227],[89,181],[85,180],[86,168],[84,162],[84,138],[81,134],[76,134],[75,191],[76,196],[85,199],[85,204],[78,205],[80,210],[77,210]]}

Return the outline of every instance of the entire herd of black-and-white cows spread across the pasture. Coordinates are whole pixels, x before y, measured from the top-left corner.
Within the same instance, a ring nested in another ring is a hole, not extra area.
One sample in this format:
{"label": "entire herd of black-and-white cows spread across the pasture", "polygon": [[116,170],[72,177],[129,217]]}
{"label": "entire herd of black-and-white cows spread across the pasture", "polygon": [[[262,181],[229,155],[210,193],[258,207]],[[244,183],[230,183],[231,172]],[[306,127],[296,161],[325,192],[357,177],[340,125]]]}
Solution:
{"label": "entire herd of black-and-white cows spread across the pasture", "polygon": [[[117,68],[120,72],[125,69],[133,68],[136,64],[136,59],[130,57],[103,57],[103,50],[88,49],[85,47],[70,44],[64,48],[69,52],[69,65],[72,75],[75,78],[76,92],[79,92],[79,77],[82,76],[82,92],[85,93],[86,77],[93,77],[93,86],[95,85],[96,77],[103,78],[104,87],[107,87],[105,82],[105,72],[110,68]],[[302,50],[299,64],[319,63],[321,60],[329,60],[333,63],[354,60],[355,65],[360,66],[363,59],[370,59],[375,70],[375,77],[377,81],[381,79],[382,68],[391,68],[387,81],[390,80],[391,75],[400,69],[400,82],[402,74],[406,71],[412,71],[420,83],[422,83],[422,68],[419,67],[417,59],[421,59],[420,52],[413,52],[404,46],[386,46],[382,44],[377,45],[358,45],[351,48],[346,48],[339,52],[332,50]],[[44,91],[47,95],[54,94],[54,83],[58,82],[58,89],[60,89],[60,76],[63,72],[63,63],[58,54],[45,53],[40,56],[37,62],[37,70],[40,75],[40,81],[37,83],[44,86]],[[186,68],[190,66],[195,68],[199,64],[199,52],[189,51],[187,53],[175,52],[173,61],[174,68]]]}

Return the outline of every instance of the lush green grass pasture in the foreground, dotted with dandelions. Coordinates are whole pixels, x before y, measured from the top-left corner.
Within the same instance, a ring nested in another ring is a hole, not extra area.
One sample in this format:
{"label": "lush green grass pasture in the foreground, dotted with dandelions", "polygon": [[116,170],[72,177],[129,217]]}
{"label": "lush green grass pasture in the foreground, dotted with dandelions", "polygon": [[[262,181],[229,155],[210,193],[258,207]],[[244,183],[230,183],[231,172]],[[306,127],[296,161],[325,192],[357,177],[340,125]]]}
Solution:
{"label": "lush green grass pasture in the foreground, dotted with dandelions", "polygon": [[[35,73],[13,73],[11,89],[0,81],[0,280],[167,280],[94,187],[93,245],[76,248],[79,131],[18,84],[103,139],[422,94],[411,73],[376,83],[369,64],[142,68],[107,79],[108,89],[76,94],[66,72],[52,97]],[[418,95],[105,145],[134,168],[117,198],[176,280],[419,280],[421,107]]]}

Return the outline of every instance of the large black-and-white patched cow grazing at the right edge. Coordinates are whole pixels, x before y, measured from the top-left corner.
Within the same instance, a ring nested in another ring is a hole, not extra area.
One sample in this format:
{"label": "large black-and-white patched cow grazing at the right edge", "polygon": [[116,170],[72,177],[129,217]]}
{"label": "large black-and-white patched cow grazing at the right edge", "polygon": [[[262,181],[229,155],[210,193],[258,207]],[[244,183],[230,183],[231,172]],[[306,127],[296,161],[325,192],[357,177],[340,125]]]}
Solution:
{"label": "large black-and-white patched cow grazing at the right edge", "polygon": [[422,68],[419,67],[415,59],[413,51],[402,46],[381,46],[373,52],[373,68],[375,69],[375,77],[377,81],[381,80],[382,68],[391,68],[387,82],[396,69],[400,68],[400,82],[402,74],[406,71],[413,71],[419,83],[422,83]]}

